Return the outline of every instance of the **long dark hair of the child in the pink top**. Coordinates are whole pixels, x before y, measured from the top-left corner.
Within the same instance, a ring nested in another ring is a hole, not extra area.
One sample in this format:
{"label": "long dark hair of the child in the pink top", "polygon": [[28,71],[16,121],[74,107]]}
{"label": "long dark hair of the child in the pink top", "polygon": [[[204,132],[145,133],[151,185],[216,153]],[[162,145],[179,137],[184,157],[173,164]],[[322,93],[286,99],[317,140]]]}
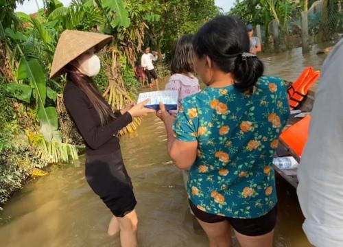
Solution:
{"label": "long dark hair of the child in the pink top", "polygon": [[178,43],[171,52],[171,73],[193,73],[193,35],[185,34],[178,39]]}

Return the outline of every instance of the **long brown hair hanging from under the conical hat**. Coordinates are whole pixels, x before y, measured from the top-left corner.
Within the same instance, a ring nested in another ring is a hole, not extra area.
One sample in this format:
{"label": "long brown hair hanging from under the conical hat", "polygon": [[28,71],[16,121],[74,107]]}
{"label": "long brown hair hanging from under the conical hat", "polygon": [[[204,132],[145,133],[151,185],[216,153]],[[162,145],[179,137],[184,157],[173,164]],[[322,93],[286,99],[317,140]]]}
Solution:
{"label": "long brown hair hanging from under the conical hat", "polygon": [[115,119],[112,108],[102,97],[94,80],[87,75],[80,75],[72,63],[67,64],[64,68],[67,71],[67,83],[75,84],[88,97],[97,115],[99,115],[102,126]]}

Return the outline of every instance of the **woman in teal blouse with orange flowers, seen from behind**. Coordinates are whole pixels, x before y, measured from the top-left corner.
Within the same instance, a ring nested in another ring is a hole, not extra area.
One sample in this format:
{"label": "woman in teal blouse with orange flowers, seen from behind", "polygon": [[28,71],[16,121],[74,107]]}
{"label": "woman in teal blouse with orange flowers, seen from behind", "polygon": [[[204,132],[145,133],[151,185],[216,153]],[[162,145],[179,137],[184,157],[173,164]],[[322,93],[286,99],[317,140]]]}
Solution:
{"label": "woman in teal blouse with orange flowers, seen from behind", "polygon": [[167,151],[177,167],[191,167],[189,204],[210,246],[231,246],[233,226],[241,246],[271,247],[272,159],[289,117],[285,84],[262,76],[263,63],[246,53],[248,34],[237,19],[209,21],[193,47],[194,67],[208,87],[183,99],[176,119],[161,104]]}

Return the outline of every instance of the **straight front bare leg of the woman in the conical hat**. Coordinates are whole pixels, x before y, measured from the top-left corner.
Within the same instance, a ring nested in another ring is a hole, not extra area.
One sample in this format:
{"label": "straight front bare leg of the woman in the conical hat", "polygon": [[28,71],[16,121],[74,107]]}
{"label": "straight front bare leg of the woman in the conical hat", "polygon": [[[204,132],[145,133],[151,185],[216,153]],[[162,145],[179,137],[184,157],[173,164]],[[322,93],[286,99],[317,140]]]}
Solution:
{"label": "straight front bare leg of the woman in the conical hat", "polygon": [[124,217],[117,217],[120,228],[121,247],[137,247],[137,213],[135,210]]}

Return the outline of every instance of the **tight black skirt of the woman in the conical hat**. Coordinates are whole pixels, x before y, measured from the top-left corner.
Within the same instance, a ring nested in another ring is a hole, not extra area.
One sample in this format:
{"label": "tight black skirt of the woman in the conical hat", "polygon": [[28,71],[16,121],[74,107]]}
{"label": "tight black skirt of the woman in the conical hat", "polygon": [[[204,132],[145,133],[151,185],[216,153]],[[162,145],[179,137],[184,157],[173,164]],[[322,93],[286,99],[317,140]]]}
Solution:
{"label": "tight black skirt of the woman in the conical hat", "polygon": [[137,201],[121,150],[87,156],[86,180],[113,215],[123,217],[134,210]]}

